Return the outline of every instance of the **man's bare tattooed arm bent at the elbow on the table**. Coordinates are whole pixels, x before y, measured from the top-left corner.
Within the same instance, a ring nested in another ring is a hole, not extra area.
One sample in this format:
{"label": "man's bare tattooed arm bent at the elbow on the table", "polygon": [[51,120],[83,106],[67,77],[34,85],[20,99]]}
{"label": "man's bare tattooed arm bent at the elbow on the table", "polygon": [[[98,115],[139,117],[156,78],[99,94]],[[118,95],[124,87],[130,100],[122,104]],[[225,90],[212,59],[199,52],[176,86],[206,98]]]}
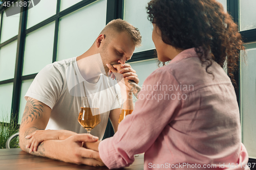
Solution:
{"label": "man's bare tattooed arm bent at the elbow on the table", "polygon": [[[44,130],[48,124],[50,114],[50,107],[38,100],[28,98],[19,128],[19,145],[23,151],[30,152],[30,149],[26,147],[30,139],[26,139],[26,136],[35,131]],[[97,137],[89,134],[77,134],[65,140],[45,140],[39,143],[37,151],[31,154],[65,162],[103,166],[98,152],[82,147],[82,142],[95,142],[97,140]]]}

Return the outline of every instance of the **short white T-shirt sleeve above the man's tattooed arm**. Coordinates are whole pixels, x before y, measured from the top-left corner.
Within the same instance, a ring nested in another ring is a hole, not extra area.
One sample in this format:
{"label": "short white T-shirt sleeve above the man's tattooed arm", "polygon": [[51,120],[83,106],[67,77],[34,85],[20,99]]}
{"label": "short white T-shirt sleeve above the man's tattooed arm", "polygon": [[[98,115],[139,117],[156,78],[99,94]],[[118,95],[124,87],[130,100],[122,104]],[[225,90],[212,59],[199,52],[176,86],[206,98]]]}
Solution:
{"label": "short white T-shirt sleeve above the man's tattooed arm", "polygon": [[28,97],[36,99],[51,109],[59,98],[63,78],[55,65],[49,64],[36,75],[30,85],[25,99]]}

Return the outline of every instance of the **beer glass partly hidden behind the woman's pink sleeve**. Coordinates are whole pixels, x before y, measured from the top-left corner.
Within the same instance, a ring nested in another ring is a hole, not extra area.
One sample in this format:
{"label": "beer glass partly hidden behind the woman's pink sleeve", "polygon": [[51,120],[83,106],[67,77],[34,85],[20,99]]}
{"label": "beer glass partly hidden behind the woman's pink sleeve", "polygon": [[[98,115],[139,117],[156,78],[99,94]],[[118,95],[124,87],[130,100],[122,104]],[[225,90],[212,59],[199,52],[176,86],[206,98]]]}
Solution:
{"label": "beer glass partly hidden behind the woman's pink sleeve", "polygon": [[125,118],[125,116],[131,114],[134,109],[134,105],[137,99],[123,99],[121,104],[121,110],[119,114],[118,124]]}

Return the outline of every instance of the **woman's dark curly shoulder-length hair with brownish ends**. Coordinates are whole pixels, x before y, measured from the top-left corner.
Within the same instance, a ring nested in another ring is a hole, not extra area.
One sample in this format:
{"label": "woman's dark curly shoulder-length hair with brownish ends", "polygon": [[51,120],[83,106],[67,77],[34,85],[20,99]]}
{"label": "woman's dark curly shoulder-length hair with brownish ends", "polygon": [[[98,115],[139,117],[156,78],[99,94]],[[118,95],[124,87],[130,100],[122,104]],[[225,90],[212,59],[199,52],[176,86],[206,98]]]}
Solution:
{"label": "woman's dark curly shoulder-length hair with brownish ends", "polygon": [[[148,20],[161,31],[164,43],[186,50],[195,47],[206,71],[214,59],[221,67],[227,60],[228,75],[238,68],[240,50],[244,50],[238,26],[215,0],[152,0],[146,7]],[[202,50],[200,50],[200,46]],[[203,54],[211,52],[211,56]],[[163,64],[164,65],[164,64]]]}

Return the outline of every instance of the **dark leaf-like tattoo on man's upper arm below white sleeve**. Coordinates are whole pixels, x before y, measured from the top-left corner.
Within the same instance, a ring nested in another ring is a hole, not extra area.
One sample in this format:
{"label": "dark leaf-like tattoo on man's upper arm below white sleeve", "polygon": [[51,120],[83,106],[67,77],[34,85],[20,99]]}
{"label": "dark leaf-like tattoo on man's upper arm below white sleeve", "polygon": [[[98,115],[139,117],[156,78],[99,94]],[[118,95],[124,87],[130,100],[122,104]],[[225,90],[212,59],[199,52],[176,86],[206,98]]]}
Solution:
{"label": "dark leaf-like tattoo on man's upper arm below white sleeve", "polygon": [[42,117],[42,113],[45,111],[42,104],[42,102],[32,98],[28,100],[24,110],[22,123],[20,124],[21,127],[27,125],[29,122],[32,122],[34,119]]}

